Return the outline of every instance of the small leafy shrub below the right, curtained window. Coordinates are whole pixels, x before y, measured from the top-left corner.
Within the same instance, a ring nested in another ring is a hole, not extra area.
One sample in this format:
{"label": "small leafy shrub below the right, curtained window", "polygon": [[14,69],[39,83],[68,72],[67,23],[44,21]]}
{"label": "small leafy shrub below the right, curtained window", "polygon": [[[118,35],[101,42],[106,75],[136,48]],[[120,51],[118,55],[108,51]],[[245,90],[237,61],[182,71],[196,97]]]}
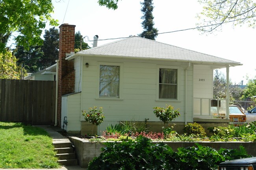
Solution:
{"label": "small leafy shrub below the right, curtained window", "polygon": [[163,121],[164,124],[173,121],[176,117],[180,115],[180,112],[174,110],[174,107],[169,105],[166,108],[154,107],[154,114],[156,117],[159,117],[160,121]]}

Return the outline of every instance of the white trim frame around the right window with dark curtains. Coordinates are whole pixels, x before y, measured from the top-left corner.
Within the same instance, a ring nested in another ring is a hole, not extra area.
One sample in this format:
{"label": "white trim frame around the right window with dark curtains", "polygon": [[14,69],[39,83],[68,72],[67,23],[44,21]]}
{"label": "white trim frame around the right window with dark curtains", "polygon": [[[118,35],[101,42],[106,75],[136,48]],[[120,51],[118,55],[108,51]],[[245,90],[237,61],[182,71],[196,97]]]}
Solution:
{"label": "white trim frame around the right window with dark curtains", "polygon": [[[177,69],[177,99],[159,99],[159,69]],[[180,66],[156,65],[156,101],[157,102],[181,102],[180,101]]]}

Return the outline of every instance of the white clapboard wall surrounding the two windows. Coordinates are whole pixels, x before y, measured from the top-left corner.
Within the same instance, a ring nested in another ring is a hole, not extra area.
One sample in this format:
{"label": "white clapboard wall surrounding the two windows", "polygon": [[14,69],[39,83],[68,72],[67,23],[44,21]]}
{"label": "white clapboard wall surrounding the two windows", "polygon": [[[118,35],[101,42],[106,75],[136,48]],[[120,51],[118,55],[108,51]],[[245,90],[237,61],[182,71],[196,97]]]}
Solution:
{"label": "white clapboard wall surrounding the two windows", "polygon": [[[89,67],[85,67],[85,63],[89,63]],[[98,90],[98,62],[122,63],[122,100],[102,100],[99,99]],[[157,66],[179,66],[179,101],[156,101]],[[104,124],[111,121],[159,121],[153,113],[153,107],[166,107],[171,104],[175,109],[179,108],[180,116],[175,121],[184,121],[185,110],[185,68],[188,63],[183,62],[166,62],[156,60],[140,60],[140,59],[124,59],[124,58],[108,58],[104,57],[84,57],[82,72],[82,110],[88,110],[89,107],[102,107],[105,115]],[[193,73],[192,66],[187,71],[187,120],[192,121],[192,83]],[[80,121],[83,121],[81,116]],[[100,130],[103,130],[100,126]]]}

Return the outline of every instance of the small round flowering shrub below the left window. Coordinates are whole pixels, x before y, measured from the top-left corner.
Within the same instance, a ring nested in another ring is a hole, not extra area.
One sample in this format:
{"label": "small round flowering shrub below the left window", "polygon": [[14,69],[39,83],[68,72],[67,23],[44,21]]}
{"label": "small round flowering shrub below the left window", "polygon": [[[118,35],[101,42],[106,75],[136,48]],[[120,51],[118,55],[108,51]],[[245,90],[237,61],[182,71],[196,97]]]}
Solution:
{"label": "small round flowering shrub below the left window", "polygon": [[84,116],[86,122],[95,124],[96,126],[101,124],[105,118],[103,115],[102,107],[100,107],[98,110],[96,106],[94,106],[94,108],[89,108],[88,112],[82,110],[82,115]]}

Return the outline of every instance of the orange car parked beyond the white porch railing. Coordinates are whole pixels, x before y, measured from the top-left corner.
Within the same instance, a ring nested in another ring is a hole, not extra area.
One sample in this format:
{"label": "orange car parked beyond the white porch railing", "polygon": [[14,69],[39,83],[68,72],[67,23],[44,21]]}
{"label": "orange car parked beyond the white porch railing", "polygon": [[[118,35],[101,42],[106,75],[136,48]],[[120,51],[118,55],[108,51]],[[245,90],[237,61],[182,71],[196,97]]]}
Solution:
{"label": "orange car parked beyond the white porch railing", "polygon": [[[213,114],[213,116],[218,116],[217,115],[217,107],[211,107],[211,113]],[[224,119],[226,116],[226,110],[221,110],[219,112],[219,116],[222,119]],[[230,119],[230,123],[234,124],[235,126],[241,125],[241,124],[247,124],[247,119],[246,119],[246,115],[243,112],[243,110],[241,110],[241,108],[239,108],[236,105],[229,105],[229,119]]]}

